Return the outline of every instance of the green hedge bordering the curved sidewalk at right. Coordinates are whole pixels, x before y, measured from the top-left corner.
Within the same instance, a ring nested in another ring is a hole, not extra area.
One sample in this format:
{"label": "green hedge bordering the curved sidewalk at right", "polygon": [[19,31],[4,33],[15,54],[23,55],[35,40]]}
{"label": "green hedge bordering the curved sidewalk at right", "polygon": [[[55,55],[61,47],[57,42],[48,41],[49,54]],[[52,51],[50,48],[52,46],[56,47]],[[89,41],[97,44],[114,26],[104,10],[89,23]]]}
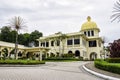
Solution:
{"label": "green hedge bordering the curved sidewalk at right", "polygon": [[94,61],[96,68],[103,69],[109,72],[120,74],[120,64],[119,63],[108,63],[106,61]]}

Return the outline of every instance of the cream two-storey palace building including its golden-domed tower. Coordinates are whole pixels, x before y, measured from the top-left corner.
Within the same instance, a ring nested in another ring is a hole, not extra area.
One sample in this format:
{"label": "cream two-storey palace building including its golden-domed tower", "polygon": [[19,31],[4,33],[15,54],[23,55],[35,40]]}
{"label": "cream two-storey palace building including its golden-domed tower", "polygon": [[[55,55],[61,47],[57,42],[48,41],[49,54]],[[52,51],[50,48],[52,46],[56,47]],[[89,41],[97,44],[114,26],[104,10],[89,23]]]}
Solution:
{"label": "cream two-storey palace building including its golden-domed tower", "polygon": [[49,54],[70,54],[75,57],[93,60],[101,58],[103,51],[103,41],[99,36],[100,29],[97,24],[87,17],[87,21],[82,24],[81,30],[74,33],[63,34],[61,32],[53,35],[40,37],[39,47],[49,48]]}

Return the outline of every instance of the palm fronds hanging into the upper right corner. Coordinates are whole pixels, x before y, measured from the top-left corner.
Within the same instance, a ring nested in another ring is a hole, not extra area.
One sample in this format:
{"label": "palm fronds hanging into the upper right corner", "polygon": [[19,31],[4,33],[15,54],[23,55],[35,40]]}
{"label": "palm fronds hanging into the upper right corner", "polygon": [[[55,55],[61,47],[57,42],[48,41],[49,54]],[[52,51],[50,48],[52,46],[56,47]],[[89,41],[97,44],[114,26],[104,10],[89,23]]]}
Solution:
{"label": "palm fronds hanging into the upper right corner", "polygon": [[115,20],[118,20],[120,22],[120,0],[118,0],[113,7],[113,15],[110,17],[112,19],[112,22]]}

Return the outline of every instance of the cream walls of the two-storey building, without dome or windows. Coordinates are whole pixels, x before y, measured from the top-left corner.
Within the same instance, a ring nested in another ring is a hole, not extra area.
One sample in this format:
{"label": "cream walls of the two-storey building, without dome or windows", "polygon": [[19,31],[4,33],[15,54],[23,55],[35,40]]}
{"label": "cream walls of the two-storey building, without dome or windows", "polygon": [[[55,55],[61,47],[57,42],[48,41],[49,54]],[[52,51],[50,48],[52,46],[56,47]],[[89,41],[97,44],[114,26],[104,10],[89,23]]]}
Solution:
{"label": "cream walls of the two-storey building, without dome or windows", "polygon": [[[96,58],[100,58],[100,54],[103,49],[103,44],[102,44],[101,38],[99,37],[99,31],[94,30],[94,29],[90,30],[90,31],[94,31],[94,36],[89,36],[89,37],[87,35],[85,36],[83,34],[84,33],[84,31],[83,31],[83,32],[79,32],[79,33],[82,33],[81,35],[77,35],[77,34],[73,33],[74,35],[71,35],[71,36],[67,37],[66,39],[64,39],[64,54],[68,54],[69,51],[72,51],[72,53],[75,54],[76,51],[79,51],[80,57],[83,57],[84,59],[90,59],[91,53],[95,53]],[[74,39],[79,39],[80,44],[75,45]],[[53,41],[53,40],[54,39],[52,39],[52,38],[43,40],[43,42],[49,42],[50,51],[48,53],[49,54],[51,54],[51,53],[62,54],[62,49],[63,49],[62,42],[60,42],[60,46],[56,46],[55,42],[54,42],[54,46],[51,46],[51,41]],[[67,40],[72,40],[72,42],[73,42],[72,45],[67,45]],[[97,46],[89,47],[89,41],[93,41],[93,40],[96,40]],[[46,47],[46,46],[43,46],[43,47]]]}

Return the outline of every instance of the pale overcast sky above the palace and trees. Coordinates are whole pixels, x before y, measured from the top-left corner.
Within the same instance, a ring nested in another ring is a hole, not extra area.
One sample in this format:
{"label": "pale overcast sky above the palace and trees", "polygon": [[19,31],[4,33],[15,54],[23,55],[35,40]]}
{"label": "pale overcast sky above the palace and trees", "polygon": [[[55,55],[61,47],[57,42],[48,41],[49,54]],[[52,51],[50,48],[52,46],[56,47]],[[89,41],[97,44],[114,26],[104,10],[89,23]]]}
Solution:
{"label": "pale overcast sky above the palace and trees", "polygon": [[38,30],[44,36],[57,32],[79,32],[91,16],[100,28],[100,36],[107,43],[120,38],[120,23],[111,22],[114,3],[118,0],[0,0],[0,28],[20,16],[27,28],[21,32]]}

